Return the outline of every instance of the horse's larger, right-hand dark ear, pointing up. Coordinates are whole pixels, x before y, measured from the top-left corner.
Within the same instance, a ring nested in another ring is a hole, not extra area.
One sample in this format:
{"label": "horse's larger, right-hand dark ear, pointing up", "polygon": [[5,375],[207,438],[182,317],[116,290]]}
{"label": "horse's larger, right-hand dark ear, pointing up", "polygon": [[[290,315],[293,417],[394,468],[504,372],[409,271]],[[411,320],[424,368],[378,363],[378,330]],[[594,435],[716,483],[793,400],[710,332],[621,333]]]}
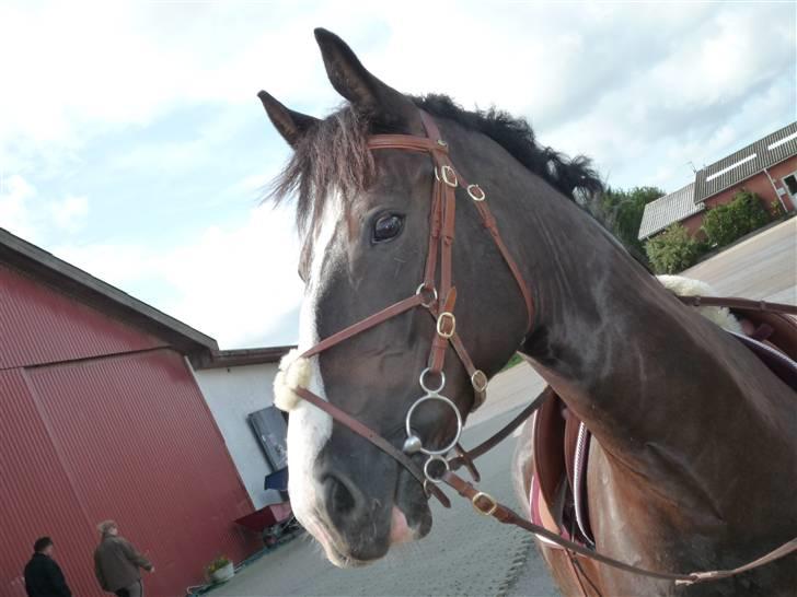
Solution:
{"label": "horse's larger, right-hand dark ear, pointing up", "polygon": [[409,121],[418,120],[414,104],[368,72],[346,42],[321,27],[314,33],[324,58],[326,74],[335,91],[363,112],[404,117]]}

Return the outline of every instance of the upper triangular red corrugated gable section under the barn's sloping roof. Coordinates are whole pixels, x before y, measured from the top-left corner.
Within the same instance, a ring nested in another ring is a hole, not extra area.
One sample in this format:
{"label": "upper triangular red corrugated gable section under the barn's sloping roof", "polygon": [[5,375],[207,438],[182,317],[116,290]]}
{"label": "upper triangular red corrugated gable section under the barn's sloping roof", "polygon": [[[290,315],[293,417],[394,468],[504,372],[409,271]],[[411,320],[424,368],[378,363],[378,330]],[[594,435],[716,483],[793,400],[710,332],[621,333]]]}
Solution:
{"label": "upper triangular red corrugated gable section under the barn's sloping roof", "polygon": [[2,265],[0,343],[0,370],[164,346]]}

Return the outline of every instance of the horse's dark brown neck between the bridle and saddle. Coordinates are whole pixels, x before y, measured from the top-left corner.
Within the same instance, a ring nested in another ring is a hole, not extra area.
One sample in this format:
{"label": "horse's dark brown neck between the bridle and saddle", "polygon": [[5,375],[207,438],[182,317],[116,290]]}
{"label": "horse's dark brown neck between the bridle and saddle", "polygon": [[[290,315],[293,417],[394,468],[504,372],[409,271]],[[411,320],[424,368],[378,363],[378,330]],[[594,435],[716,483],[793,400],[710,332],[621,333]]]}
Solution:
{"label": "horse's dark brown neck between the bridle and saddle", "polygon": [[706,445],[727,444],[729,430],[739,445],[744,434],[759,444],[777,435],[771,405],[746,379],[762,373],[760,363],[682,306],[582,210],[518,173],[522,180],[524,189],[505,195],[522,204],[498,215],[509,237],[522,239],[516,246],[535,296],[524,354],[614,465],[723,510],[723,472],[743,465],[732,454],[707,459]]}

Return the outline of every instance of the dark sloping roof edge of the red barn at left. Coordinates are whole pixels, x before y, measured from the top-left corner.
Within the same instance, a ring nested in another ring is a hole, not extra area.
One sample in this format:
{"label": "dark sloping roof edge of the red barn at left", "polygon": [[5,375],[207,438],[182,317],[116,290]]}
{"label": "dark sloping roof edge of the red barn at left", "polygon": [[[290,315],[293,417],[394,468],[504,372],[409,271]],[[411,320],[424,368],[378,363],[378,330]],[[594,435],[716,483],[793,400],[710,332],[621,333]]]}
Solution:
{"label": "dark sloping roof edge of the red barn at left", "polygon": [[0,262],[163,338],[186,354],[219,349],[219,344],[209,336],[3,229],[0,229]]}

